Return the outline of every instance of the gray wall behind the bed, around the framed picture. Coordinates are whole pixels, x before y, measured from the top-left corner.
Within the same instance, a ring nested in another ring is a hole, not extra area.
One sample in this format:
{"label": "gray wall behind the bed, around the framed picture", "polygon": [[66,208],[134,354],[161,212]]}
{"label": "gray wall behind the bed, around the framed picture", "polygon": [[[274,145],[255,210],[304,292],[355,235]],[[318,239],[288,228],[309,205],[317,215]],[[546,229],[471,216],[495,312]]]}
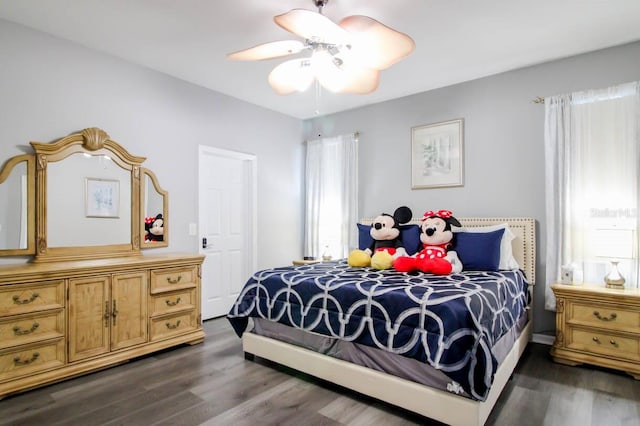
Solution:
{"label": "gray wall behind the bed, around the framed picture", "polygon": [[[446,208],[460,217],[535,218],[534,331],[552,332],[555,319],[544,310],[543,288],[544,105],[532,100],[639,79],[640,43],[633,43],[307,120],[304,135],[360,132],[361,217],[407,205],[414,216]],[[411,190],[411,127],[456,118],[464,119],[464,186]]]}

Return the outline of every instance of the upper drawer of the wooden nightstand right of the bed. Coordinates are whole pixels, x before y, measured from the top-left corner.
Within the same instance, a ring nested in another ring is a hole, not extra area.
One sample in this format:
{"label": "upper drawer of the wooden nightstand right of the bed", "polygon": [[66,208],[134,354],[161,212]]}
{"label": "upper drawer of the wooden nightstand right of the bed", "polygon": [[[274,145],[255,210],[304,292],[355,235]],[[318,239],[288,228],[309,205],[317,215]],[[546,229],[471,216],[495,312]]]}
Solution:
{"label": "upper drawer of the wooden nightstand right of the bed", "polygon": [[573,324],[608,328],[611,330],[640,329],[640,310],[611,305],[571,302],[567,321]]}

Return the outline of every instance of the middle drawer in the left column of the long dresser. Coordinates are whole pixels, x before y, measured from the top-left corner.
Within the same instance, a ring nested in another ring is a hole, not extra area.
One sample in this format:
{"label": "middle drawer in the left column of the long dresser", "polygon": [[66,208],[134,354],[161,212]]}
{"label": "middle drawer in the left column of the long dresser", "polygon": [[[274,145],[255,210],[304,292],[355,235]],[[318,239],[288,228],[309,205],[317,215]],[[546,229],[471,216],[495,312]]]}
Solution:
{"label": "middle drawer in the left column of the long dresser", "polygon": [[0,349],[64,336],[64,311],[38,312],[0,320]]}

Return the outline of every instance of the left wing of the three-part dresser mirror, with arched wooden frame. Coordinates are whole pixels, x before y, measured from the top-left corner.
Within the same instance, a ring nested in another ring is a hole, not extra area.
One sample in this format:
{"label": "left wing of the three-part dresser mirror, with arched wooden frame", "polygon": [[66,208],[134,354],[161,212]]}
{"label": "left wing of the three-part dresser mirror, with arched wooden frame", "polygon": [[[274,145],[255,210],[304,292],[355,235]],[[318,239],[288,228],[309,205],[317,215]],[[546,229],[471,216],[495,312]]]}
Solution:
{"label": "left wing of the three-part dresser mirror, with arched wooden frame", "polygon": [[0,169],[0,256],[35,252],[34,156],[18,155]]}

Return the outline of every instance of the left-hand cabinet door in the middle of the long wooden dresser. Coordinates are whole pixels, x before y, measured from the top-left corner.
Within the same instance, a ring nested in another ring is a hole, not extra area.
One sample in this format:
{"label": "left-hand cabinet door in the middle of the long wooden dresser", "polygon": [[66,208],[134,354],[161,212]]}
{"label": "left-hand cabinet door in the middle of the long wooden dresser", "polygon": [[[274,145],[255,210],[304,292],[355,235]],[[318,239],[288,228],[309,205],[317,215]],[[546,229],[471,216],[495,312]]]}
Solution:
{"label": "left-hand cabinet door in the middle of the long wooden dresser", "polygon": [[69,361],[109,352],[108,276],[69,280]]}

